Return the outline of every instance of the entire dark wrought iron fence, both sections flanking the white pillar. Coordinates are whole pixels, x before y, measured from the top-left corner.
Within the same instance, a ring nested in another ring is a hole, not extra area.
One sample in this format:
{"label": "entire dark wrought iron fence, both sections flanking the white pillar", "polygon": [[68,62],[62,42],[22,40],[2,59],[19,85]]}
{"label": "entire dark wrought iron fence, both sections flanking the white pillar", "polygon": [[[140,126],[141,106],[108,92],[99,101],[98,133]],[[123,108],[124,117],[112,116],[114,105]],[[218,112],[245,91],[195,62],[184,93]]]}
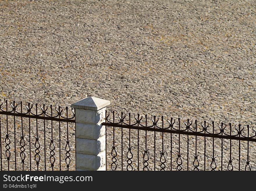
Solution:
{"label": "entire dark wrought iron fence, both sections flanking the white pillar", "polygon": [[[0,103],[1,170],[75,169],[73,109],[4,103]],[[130,113],[110,116],[107,111],[102,125],[106,170],[256,169],[256,131],[251,125]]]}

